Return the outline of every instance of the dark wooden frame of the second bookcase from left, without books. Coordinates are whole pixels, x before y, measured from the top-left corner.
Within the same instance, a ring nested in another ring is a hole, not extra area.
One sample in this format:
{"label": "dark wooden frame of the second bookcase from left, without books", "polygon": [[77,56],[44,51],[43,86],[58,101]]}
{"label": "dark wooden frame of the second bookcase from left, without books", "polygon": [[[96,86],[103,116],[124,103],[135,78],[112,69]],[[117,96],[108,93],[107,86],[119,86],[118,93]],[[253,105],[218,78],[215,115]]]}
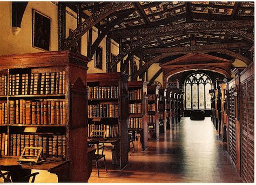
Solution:
{"label": "dark wooden frame of the second bookcase from left, without books", "polygon": [[[117,98],[90,98],[88,105],[100,105],[100,104],[114,104],[118,106],[118,115],[116,117],[98,117],[98,121],[89,117],[89,124],[105,125],[112,127],[118,127],[114,132],[114,138],[108,138],[102,143],[110,143],[114,145],[116,155],[118,159],[119,168],[124,168],[128,164],[128,130],[127,130],[127,118],[128,118],[128,94],[127,94],[127,79],[129,75],[124,73],[97,73],[87,74],[87,84],[89,87],[117,87]],[[100,127],[100,126],[99,126]]]}

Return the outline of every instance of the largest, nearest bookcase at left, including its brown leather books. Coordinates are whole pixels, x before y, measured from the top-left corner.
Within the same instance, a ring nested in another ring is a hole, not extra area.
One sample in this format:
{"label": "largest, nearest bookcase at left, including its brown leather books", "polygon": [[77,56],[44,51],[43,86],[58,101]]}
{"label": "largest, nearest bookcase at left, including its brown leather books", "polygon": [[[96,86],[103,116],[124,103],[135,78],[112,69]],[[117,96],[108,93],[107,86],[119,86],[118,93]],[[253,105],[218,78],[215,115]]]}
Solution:
{"label": "largest, nearest bookcase at left, including its brown leather books", "polygon": [[65,181],[87,182],[88,61],[70,51],[0,56],[1,158],[43,147],[41,158],[68,161]]}

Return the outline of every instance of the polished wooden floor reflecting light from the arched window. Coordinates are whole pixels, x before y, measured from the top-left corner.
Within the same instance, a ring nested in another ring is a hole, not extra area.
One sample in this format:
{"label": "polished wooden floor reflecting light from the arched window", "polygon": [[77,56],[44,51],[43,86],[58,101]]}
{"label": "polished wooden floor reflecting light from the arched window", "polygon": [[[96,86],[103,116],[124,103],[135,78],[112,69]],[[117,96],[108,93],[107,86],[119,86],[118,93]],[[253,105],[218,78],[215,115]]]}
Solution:
{"label": "polished wooden floor reflecting light from the arched window", "polygon": [[159,141],[149,141],[147,151],[136,145],[123,170],[111,165],[110,150],[105,151],[109,173],[100,168],[98,178],[93,168],[89,182],[242,182],[210,117],[183,117]]}

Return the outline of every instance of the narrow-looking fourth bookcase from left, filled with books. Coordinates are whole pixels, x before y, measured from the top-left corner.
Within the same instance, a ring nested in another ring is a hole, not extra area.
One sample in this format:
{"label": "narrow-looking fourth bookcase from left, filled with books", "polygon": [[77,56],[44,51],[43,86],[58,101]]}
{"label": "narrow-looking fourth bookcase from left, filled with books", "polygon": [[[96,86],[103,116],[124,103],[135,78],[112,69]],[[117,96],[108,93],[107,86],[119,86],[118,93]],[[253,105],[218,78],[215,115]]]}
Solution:
{"label": "narrow-looking fourth bookcase from left, filled with books", "polygon": [[148,139],[159,139],[159,86],[147,87],[147,129]]}

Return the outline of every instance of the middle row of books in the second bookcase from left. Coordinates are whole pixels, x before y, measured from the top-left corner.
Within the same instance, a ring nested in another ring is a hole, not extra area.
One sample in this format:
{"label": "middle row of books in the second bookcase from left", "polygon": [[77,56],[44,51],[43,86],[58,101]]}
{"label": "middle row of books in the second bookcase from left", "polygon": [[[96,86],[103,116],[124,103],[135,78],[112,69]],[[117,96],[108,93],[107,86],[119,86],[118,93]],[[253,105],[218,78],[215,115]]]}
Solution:
{"label": "middle row of books in the second bookcase from left", "polygon": [[118,117],[118,105],[117,104],[97,104],[88,105],[88,117]]}

